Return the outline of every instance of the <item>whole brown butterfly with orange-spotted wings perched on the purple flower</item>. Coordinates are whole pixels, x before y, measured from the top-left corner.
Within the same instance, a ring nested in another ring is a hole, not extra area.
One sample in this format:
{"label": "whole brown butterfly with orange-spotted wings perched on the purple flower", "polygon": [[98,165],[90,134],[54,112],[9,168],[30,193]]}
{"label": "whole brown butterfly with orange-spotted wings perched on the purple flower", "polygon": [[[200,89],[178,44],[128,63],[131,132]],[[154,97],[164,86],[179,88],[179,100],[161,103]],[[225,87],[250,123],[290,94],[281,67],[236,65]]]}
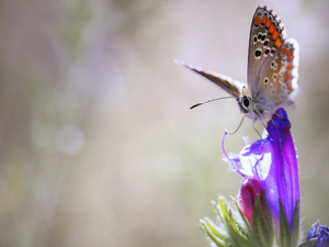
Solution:
{"label": "whole brown butterfly with orange-spotted wings perched on the purple flower", "polygon": [[[246,116],[252,120],[253,124],[257,120],[262,123],[261,120],[273,114],[276,109],[295,104],[293,97],[298,90],[298,43],[293,38],[286,40],[284,25],[277,14],[266,5],[259,5],[254,11],[250,27],[248,87],[222,74],[203,70],[179,60],[175,63],[206,78],[230,94],[225,98],[237,100],[243,117],[237,130],[229,133],[234,134],[239,130]],[[203,103],[194,104],[191,109]],[[257,133],[259,134],[258,131]]]}

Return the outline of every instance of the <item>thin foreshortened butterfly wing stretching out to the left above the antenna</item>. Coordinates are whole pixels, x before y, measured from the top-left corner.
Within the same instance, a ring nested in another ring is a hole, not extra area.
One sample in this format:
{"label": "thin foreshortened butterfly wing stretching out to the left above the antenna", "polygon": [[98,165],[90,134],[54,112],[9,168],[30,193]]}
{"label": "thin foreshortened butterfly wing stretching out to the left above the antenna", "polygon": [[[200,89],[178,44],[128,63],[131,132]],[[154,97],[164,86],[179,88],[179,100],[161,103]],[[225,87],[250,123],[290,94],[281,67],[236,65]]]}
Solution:
{"label": "thin foreshortened butterfly wing stretching out to the left above the antenna", "polygon": [[245,86],[245,83],[232,80],[231,78],[224,76],[218,72],[214,72],[211,70],[204,70],[200,67],[188,65],[184,61],[174,60],[177,64],[184,66],[185,68],[196,72],[197,75],[202,76],[203,78],[212,81],[219,88],[222,88],[224,91],[229,93],[230,96],[235,97],[236,99],[239,98],[241,88]]}

